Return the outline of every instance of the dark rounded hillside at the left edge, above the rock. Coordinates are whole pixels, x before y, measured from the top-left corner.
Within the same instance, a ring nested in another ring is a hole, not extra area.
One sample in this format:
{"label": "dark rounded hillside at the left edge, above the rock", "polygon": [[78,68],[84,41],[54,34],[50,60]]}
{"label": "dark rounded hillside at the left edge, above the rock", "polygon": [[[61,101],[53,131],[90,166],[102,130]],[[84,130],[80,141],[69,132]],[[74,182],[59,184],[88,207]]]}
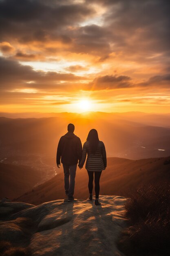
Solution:
{"label": "dark rounded hillside at the left edge, above the rock", "polygon": [[29,166],[0,163],[0,198],[17,197],[33,188],[40,174]]}

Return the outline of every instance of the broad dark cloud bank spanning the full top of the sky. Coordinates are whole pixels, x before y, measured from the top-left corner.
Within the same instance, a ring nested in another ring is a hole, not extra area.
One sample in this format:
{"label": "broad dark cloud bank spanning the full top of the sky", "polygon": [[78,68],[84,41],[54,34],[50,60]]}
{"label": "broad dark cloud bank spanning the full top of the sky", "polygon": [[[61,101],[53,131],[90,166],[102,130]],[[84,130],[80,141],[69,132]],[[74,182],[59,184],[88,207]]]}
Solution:
{"label": "broad dark cloud bank spanning the full top of the sky", "polygon": [[[95,17],[93,4],[104,6],[101,25],[81,25]],[[129,58],[170,53],[170,4],[167,0],[3,0],[0,1],[1,40],[20,43],[60,41],[68,51],[88,53],[106,61],[111,52]],[[73,29],[70,29],[72,27]],[[42,46],[42,45],[41,45]],[[44,45],[57,52],[57,47]],[[49,51],[50,53],[50,51]],[[151,60],[150,60],[151,61]]]}

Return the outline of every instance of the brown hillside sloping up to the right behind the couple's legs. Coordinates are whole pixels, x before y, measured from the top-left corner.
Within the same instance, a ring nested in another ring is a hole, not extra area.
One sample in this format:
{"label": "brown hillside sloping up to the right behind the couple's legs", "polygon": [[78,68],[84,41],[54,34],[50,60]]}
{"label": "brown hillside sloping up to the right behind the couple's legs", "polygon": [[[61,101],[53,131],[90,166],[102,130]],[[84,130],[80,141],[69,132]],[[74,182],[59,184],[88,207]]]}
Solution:
{"label": "brown hillside sloping up to the right behind the couple's legs", "polygon": [[[100,194],[127,196],[128,191],[141,185],[170,180],[170,164],[164,164],[170,157],[130,160],[108,158],[108,167],[100,180]],[[64,193],[64,175],[59,173],[51,180],[27,191],[16,201],[40,204],[50,200],[62,199]],[[94,193],[94,192],[93,192]],[[77,168],[75,198],[88,197],[88,175],[86,169]]]}

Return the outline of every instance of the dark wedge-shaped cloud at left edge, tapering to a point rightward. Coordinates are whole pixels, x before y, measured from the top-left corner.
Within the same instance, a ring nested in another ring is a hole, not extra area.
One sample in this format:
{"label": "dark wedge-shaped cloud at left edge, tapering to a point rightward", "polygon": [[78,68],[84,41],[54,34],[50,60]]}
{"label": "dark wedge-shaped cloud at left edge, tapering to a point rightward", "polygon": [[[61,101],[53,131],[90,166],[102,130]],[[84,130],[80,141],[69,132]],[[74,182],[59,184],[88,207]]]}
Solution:
{"label": "dark wedge-shaped cloud at left edge, tapering to a point rightward", "polygon": [[[21,65],[18,61],[0,57],[0,87],[2,90],[12,88],[56,88],[60,81],[79,81],[81,76],[57,72],[33,70],[29,65]],[[59,86],[61,88],[61,85]]]}

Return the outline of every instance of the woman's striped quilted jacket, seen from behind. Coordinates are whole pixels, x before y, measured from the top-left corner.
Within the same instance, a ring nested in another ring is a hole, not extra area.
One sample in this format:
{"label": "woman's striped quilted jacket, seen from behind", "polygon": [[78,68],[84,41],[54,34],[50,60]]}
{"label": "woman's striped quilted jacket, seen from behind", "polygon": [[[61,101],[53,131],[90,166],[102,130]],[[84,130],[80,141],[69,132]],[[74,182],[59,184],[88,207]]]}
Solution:
{"label": "woman's striped quilted jacket, seen from behind", "polygon": [[82,160],[79,162],[79,167],[83,167],[84,162],[86,160],[86,169],[87,171],[102,171],[107,166],[107,159],[106,159],[106,150],[103,141],[99,141],[99,145],[95,154],[91,153],[91,149],[89,146],[89,142],[86,141],[83,145],[83,154]]}

